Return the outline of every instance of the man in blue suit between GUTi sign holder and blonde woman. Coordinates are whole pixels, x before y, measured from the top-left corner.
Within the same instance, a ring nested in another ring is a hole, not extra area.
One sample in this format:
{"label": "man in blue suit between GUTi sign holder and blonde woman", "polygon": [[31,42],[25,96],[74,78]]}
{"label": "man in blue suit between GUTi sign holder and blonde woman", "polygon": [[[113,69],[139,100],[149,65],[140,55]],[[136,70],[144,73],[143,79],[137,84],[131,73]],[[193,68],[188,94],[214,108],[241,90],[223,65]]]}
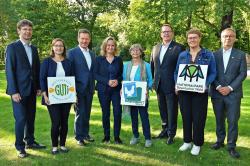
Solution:
{"label": "man in blue suit between GUTi sign holder and blonde woman", "polygon": [[93,142],[89,135],[89,119],[94,94],[94,60],[95,54],[89,50],[91,40],[87,29],[78,31],[79,45],[68,51],[68,58],[72,61],[76,79],[77,104],[75,105],[75,139],[78,145],[85,145],[84,141]]}

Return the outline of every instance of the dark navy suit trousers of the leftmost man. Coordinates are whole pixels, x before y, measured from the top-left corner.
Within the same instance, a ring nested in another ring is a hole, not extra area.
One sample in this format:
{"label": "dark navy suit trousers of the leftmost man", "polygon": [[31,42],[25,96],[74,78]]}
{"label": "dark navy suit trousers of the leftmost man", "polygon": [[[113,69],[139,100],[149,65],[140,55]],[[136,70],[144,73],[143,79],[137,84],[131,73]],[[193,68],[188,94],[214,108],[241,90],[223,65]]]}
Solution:
{"label": "dark navy suit trousers of the leftmost man", "polygon": [[17,150],[23,150],[25,142],[30,145],[35,140],[36,94],[22,97],[19,103],[12,100],[12,106],[15,118],[15,147]]}

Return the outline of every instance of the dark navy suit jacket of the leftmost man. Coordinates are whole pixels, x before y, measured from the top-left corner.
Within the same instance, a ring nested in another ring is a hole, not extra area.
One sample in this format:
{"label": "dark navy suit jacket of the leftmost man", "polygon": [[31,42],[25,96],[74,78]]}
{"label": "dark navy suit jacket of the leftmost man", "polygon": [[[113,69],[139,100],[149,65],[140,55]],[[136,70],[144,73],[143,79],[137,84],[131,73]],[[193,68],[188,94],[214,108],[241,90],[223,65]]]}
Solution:
{"label": "dark navy suit jacket of the leftmost man", "polygon": [[8,95],[20,93],[29,96],[31,92],[40,89],[39,72],[40,60],[37,48],[31,45],[32,66],[29,63],[25,48],[20,40],[7,46],[6,49],[6,78]]}

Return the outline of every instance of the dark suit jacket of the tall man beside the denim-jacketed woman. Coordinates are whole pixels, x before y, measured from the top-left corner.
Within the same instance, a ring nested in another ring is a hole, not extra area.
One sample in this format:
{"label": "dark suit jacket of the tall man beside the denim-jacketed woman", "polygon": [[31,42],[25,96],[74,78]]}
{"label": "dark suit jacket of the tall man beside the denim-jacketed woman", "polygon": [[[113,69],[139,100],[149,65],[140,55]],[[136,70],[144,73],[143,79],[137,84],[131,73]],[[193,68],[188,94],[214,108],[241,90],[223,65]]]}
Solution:
{"label": "dark suit jacket of the tall man beside the denim-jacketed woman", "polygon": [[168,50],[166,51],[162,64],[160,63],[161,45],[157,44],[153,47],[151,53],[151,71],[154,78],[153,88],[157,91],[159,83],[165,94],[175,92],[174,71],[179,54],[184,50],[184,46],[171,41]]}

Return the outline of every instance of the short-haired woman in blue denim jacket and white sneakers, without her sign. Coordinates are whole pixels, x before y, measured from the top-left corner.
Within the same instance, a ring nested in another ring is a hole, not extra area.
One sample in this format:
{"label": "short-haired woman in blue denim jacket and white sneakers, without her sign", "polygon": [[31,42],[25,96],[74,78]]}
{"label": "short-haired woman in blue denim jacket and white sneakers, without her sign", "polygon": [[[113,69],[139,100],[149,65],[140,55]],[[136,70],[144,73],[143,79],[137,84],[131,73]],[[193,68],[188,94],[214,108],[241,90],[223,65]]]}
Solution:
{"label": "short-haired woman in blue denim jacket and white sneakers, without her sign", "polygon": [[[216,77],[216,65],[213,53],[200,46],[201,32],[191,29],[187,32],[187,42],[189,49],[180,53],[176,71],[175,81],[180,64],[207,65],[206,88]],[[183,121],[184,144],[179,151],[186,151],[192,147],[192,155],[199,155],[201,146],[204,144],[204,128],[207,118],[208,92],[188,92],[176,91],[179,96],[179,104]]]}

